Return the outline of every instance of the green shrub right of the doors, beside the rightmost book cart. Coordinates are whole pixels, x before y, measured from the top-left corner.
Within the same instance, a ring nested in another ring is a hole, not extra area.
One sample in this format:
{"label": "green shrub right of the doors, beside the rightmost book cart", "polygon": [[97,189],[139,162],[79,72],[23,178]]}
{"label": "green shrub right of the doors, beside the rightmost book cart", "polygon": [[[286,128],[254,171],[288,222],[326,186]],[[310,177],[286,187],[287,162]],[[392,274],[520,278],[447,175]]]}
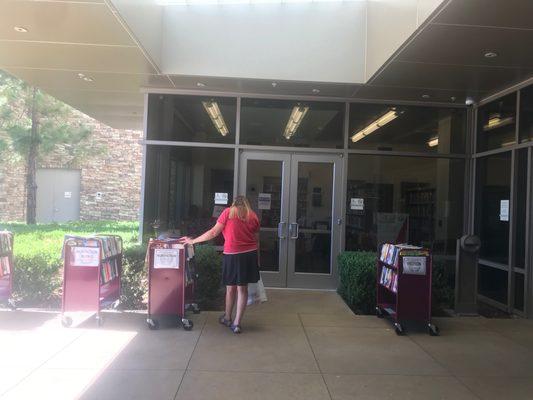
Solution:
{"label": "green shrub right of the doors, beside the rightmost book cart", "polygon": [[376,254],[347,251],[338,257],[339,287],[346,304],[357,314],[371,314],[376,307]]}

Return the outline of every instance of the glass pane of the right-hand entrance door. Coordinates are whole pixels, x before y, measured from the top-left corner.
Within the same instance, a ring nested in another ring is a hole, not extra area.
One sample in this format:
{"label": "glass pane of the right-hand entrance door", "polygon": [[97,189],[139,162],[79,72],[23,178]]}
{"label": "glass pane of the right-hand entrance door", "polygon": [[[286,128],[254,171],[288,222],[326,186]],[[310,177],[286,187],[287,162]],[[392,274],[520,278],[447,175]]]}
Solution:
{"label": "glass pane of the right-hand entrance door", "polygon": [[333,164],[298,163],[296,195],[295,271],[329,274],[331,267],[331,210]]}

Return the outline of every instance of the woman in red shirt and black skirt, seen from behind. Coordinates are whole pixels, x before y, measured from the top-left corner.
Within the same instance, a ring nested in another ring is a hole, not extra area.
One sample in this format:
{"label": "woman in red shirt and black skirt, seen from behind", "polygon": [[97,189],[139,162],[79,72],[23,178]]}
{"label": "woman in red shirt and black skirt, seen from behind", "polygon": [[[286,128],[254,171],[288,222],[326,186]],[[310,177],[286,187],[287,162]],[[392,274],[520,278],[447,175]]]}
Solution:
{"label": "woman in red shirt and black skirt, seen from behind", "polygon": [[[237,196],[226,208],[213,228],[195,239],[186,238],[186,244],[211,240],[220,233],[224,236],[222,283],[226,286],[226,310],[219,322],[241,333],[241,320],[248,300],[248,284],[259,280],[257,263],[259,248],[259,219],[244,196]],[[231,321],[237,295],[237,311]]]}

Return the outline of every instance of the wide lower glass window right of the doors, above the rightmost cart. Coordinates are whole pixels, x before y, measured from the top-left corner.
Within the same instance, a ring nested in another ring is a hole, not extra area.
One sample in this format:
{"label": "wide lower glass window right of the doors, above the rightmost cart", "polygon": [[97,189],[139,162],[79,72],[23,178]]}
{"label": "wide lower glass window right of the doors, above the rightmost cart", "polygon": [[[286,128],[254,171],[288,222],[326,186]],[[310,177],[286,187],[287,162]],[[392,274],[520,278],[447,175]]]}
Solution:
{"label": "wide lower glass window right of the doors, above the rightmost cart", "polygon": [[[463,228],[464,160],[350,155],[346,249],[384,242],[454,255]],[[351,209],[351,200],[362,207]]]}

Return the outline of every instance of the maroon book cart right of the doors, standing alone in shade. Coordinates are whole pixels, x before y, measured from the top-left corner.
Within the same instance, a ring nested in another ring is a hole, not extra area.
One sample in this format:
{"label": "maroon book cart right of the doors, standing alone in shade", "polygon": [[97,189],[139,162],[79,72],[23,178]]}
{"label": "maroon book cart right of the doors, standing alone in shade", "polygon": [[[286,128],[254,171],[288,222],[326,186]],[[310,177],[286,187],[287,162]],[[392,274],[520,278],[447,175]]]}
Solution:
{"label": "maroon book cart right of the doors, standing alone in shade", "polygon": [[376,314],[388,315],[396,334],[406,322],[423,322],[431,336],[439,328],[431,323],[432,257],[428,249],[383,244],[377,259]]}

